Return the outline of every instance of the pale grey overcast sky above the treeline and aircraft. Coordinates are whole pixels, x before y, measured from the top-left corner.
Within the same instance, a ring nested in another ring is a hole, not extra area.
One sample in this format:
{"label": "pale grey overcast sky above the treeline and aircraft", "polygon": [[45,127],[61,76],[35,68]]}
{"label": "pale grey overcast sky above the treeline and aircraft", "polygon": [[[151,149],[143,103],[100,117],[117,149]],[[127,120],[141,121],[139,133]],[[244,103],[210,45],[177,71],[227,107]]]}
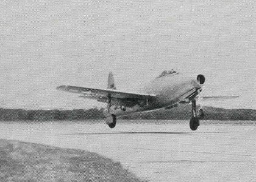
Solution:
{"label": "pale grey overcast sky above the treeline and aircraft", "polygon": [[162,70],[205,75],[207,103],[256,109],[256,1],[0,0],[0,107],[90,108],[61,84],[138,90]]}

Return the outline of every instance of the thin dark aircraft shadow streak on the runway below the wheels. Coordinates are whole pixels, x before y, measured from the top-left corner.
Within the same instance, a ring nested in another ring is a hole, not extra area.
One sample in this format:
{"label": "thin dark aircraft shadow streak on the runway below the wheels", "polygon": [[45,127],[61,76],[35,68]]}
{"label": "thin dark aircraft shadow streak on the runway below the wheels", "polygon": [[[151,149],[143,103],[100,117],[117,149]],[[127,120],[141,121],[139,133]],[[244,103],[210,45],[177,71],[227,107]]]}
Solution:
{"label": "thin dark aircraft shadow streak on the runway below the wheels", "polygon": [[118,135],[118,134],[175,134],[175,135],[189,135],[185,132],[113,132],[113,133],[68,133],[66,135]]}

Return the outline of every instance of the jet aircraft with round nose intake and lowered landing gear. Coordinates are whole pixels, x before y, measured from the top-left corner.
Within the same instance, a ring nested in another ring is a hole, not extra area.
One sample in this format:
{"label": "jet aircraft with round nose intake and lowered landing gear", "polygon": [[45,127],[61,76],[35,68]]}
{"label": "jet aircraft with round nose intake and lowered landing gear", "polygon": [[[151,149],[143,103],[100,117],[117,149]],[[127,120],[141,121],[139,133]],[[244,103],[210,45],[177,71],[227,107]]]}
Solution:
{"label": "jet aircraft with round nose intake and lowered landing gear", "polygon": [[[126,92],[116,89],[113,73],[110,72],[107,89],[59,86],[57,90],[78,93],[80,97],[107,103],[104,116],[106,124],[110,128],[116,126],[116,118],[119,116],[162,108],[171,109],[176,107],[177,104],[191,103],[190,129],[196,130],[199,126],[199,119],[204,117],[202,108],[196,110],[196,100],[204,83],[204,75],[197,75],[196,78],[193,78],[176,72],[176,70],[165,70],[143,88],[144,92]],[[230,97],[232,96],[225,96],[225,98]],[[207,99],[209,98],[211,97],[208,96]],[[214,96],[213,98],[221,97]],[[204,99],[204,97],[201,97],[201,99]]]}

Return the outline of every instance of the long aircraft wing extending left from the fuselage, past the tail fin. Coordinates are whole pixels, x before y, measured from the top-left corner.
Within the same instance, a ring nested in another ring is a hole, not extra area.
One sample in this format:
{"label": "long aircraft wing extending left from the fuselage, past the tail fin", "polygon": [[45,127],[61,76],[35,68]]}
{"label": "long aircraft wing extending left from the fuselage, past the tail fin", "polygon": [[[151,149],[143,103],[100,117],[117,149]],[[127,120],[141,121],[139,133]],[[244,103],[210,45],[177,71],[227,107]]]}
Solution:
{"label": "long aircraft wing extending left from the fuselage, past the tail fin", "polygon": [[124,92],[121,90],[112,89],[95,89],[90,87],[76,87],[76,86],[59,86],[57,90],[62,90],[65,92],[78,93],[80,97],[97,99],[99,102],[107,103],[108,96],[111,96],[112,101],[122,101],[125,103],[137,104],[145,99],[154,99],[154,94],[148,93],[133,93]]}

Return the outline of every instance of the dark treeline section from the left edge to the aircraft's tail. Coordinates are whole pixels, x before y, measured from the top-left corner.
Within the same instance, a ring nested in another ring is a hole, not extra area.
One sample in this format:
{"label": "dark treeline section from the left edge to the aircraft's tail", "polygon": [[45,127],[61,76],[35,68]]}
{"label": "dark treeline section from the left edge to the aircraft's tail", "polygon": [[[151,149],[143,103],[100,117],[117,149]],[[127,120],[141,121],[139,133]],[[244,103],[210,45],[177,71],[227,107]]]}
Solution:
{"label": "dark treeline section from the left edge to the aircraft's tail", "polygon": [[103,109],[74,110],[24,110],[0,108],[0,121],[49,121],[49,120],[97,120],[103,117]]}

